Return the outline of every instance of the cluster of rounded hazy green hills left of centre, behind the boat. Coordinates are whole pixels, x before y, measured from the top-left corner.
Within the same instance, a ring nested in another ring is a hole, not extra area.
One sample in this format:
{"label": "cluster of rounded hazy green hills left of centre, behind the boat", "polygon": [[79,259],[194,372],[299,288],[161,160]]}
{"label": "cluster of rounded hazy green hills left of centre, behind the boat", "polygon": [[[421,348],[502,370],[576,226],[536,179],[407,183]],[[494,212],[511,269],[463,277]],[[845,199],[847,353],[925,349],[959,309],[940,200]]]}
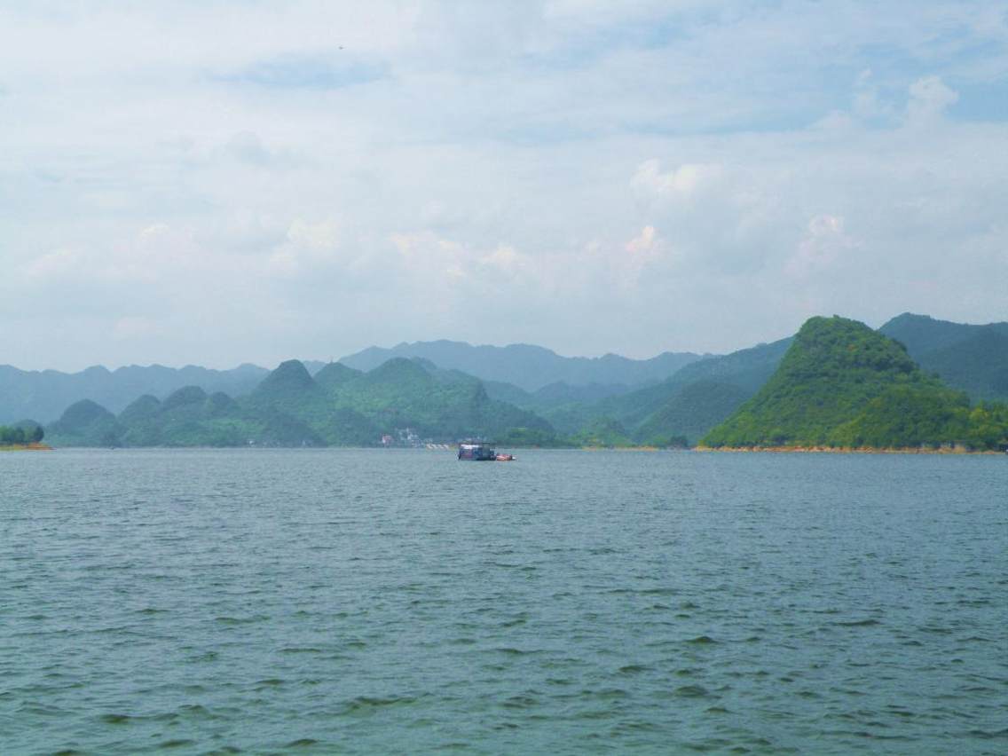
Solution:
{"label": "cluster of rounded hazy green hills left of centre, behind the boat", "polygon": [[345,365],[314,377],[282,363],[248,395],[185,386],[164,400],[145,394],[118,416],[85,399],[47,428],[54,446],[377,446],[410,428],[446,442],[466,436],[559,443],[536,414],[491,399],[477,378],[423,360],[395,358],[363,373]]}

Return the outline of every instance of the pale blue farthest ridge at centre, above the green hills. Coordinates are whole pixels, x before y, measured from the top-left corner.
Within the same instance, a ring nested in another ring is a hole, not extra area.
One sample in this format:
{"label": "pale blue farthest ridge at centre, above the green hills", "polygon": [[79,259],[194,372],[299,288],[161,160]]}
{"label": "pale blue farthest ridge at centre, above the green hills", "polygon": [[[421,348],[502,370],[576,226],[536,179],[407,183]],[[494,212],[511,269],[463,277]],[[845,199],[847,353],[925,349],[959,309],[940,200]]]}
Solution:
{"label": "pale blue farthest ridge at centre, above the green hills", "polygon": [[511,383],[525,391],[536,391],[552,383],[570,386],[653,383],[702,359],[701,355],[689,352],[664,352],[649,360],[631,360],[612,354],[561,357],[528,344],[474,347],[464,342],[436,341],[403,343],[392,349],[369,347],[340,362],[356,370],[368,371],[393,357],[419,357],[440,368],[461,370],[484,380]]}

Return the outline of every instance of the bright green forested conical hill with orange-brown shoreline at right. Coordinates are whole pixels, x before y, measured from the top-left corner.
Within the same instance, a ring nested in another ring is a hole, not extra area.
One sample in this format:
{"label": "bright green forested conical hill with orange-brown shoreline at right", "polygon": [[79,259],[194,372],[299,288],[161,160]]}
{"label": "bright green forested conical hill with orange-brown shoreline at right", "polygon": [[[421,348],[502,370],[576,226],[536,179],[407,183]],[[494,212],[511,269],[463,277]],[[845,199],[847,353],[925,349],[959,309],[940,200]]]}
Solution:
{"label": "bright green forested conical hill with orange-brown shoreline at right", "polygon": [[1008,406],[971,407],[901,344],[834,317],[807,321],[770,380],[702,444],[997,449],[1006,438]]}

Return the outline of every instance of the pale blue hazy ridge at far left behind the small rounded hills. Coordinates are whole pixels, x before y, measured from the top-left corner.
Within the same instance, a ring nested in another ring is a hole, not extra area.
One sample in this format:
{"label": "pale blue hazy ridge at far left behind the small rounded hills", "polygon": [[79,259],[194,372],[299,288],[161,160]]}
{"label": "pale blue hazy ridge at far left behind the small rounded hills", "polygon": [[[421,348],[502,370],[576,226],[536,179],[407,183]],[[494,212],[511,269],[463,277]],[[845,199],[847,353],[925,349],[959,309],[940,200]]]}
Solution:
{"label": "pale blue hazy ridge at far left behind the small rounded hills", "polygon": [[194,365],[178,369],[131,365],[116,370],[92,367],[79,373],[18,370],[0,365],[0,423],[20,417],[48,422],[82,399],[91,399],[112,412],[119,412],[138,396],[166,396],[182,386],[238,396],[249,393],[268,372],[255,365],[241,365],[233,370]]}

